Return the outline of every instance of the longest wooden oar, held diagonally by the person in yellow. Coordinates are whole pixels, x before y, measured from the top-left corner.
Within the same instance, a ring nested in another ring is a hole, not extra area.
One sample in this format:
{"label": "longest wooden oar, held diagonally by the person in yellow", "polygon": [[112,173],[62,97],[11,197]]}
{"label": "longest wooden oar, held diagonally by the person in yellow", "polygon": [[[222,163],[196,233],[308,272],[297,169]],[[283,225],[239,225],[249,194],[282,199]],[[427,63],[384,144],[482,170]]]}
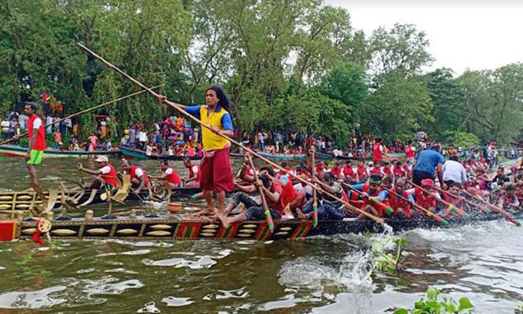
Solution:
{"label": "longest wooden oar, held diagonally by the person in yellow", "polygon": [[[241,147],[242,149],[244,149],[245,151],[248,151],[250,152],[250,154],[252,154],[252,156],[256,156],[257,158],[263,160],[265,163],[268,163],[269,165],[272,165],[273,167],[276,167],[278,168],[279,170],[282,170],[283,172],[289,174],[291,177],[293,177],[294,179],[300,181],[301,183],[303,184],[307,184],[308,186],[311,186],[312,188],[314,189],[317,189],[319,190],[319,192],[325,194],[325,195],[328,195],[330,196],[331,198],[333,198],[334,200],[337,200],[338,202],[341,202],[342,204],[344,204],[346,207],[348,207],[349,209],[352,209],[354,211],[357,211],[358,213],[360,214],[363,214],[364,216],[367,216],[367,218],[370,218],[374,221],[376,221],[377,223],[381,223],[381,225],[386,225],[386,223],[384,223],[384,220],[379,218],[379,217],[376,217],[372,214],[369,214],[367,213],[367,211],[362,211],[361,209],[358,209],[357,207],[354,207],[352,206],[351,204],[349,204],[348,202],[344,202],[344,200],[342,200],[341,198],[339,197],[336,197],[335,195],[331,194],[331,193],[328,193],[326,192],[325,190],[323,190],[322,188],[319,188],[318,186],[315,186],[314,184],[311,184],[309,181],[307,180],[303,180],[301,179],[300,177],[292,174],[291,172],[287,171],[285,168],[281,167],[280,165],[276,164],[276,163],[273,163],[271,160],[268,160],[267,158],[264,158],[263,156],[260,156],[259,154],[257,154],[255,151],[253,151],[252,149],[248,148],[248,147],[245,147],[243,146],[243,144],[241,144],[240,142],[236,141],[236,140],[233,140],[231,137],[228,137],[227,135],[221,133],[219,130],[215,130],[215,128],[213,128],[212,126],[210,126],[209,124],[206,124],[204,123],[203,121],[201,121],[200,119],[197,119],[197,117],[194,117],[192,116],[192,114],[188,114],[187,112],[185,112],[185,110],[183,110],[182,107],[180,107],[181,105],[180,104],[177,104],[177,103],[173,103],[172,101],[170,100],[167,100],[167,98],[165,98],[165,96],[162,96],[158,93],[156,93],[156,91],[153,91],[152,89],[150,89],[149,87],[146,87],[144,84],[142,84],[141,82],[137,81],[134,77],[131,77],[130,75],[128,75],[127,73],[123,72],[123,70],[120,70],[119,68],[117,68],[116,66],[114,66],[114,64],[110,63],[109,61],[103,59],[103,57],[100,57],[98,54],[96,54],[96,52],[93,52],[92,50],[90,50],[88,47],[86,47],[85,45],[83,45],[82,43],[76,43],[79,47],[81,47],[83,50],[85,50],[86,52],[88,52],[89,54],[91,54],[91,56],[93,57],[96,57],[96,59],[102,61],[106,66],[108,66],[109,68],[112,68],[113,70],[115,70],[117,73],[120,73],[121,75],[123,75],[123,77],[126,77],[128,80],[130,80],[131,82],[137,84],[139,87],[142,87],[142,89],[145,89],[146,91],[149,91],[149,94],[155,96],[156,98],[158,98],[158,100],[160,100],[160,102],[162,102],[163,104],[169,106],[169,107],[172,107],[174,110],[180,112],[181,114],[185,115],[185,117],[188,117],[188,119],[191,119],[192,121],[195,121],[197,124],[199,124],[200,126],[204,127],[204,128],[208,128],[209,130],[211,130],[213,133],[217,134],[217,135],[220,135],[221,137],[225,138],[226,140],[228,140],[229,142],[232,142],[234,144],[236,144],[238,147]],[[387,225],[388,228],[390,228],[390,226]]]}

